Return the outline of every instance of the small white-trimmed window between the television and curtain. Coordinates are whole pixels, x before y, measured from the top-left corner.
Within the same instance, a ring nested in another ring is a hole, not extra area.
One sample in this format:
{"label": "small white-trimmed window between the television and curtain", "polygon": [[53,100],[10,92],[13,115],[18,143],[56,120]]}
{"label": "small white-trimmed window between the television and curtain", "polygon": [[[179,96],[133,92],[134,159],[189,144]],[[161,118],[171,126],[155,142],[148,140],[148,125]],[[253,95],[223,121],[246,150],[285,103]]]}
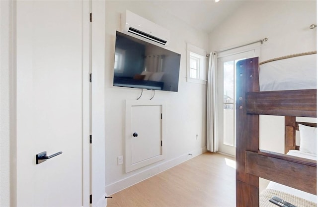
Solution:
{"label": "small white-trimmed window between the television and curtain", "polygon": [[187,81],[206,84],[206,52],[187,44]]}

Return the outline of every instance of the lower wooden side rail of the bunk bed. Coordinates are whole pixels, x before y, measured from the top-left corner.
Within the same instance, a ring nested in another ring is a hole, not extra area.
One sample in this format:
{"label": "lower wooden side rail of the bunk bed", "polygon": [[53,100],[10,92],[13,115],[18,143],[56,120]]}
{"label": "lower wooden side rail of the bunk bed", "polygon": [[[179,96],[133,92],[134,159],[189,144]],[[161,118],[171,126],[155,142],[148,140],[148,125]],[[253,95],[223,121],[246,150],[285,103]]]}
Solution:
{"label": "lower wooden side rail of the bunk bed", "polygon": [[291,155],[246,151],[246,173],[317,194],[317,162]]}

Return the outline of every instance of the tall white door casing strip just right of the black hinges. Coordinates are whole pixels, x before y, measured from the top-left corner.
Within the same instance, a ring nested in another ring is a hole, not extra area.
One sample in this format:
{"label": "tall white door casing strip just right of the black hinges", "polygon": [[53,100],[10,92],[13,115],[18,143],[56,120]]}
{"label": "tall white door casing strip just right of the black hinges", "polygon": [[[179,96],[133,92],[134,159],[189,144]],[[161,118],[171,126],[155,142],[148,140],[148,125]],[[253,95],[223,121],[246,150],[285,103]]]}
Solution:
{"label": "tall white door casing strip just right of the black hinges", "polygon": [[[90,23],[90,72],[91,72],[91,124],[90,190],[93,207],[105,207],[105,21],[104,0],[89,0]],[[84,17],[86,17],[85,14]],[[88,16],[87,16],[88,17]]]}

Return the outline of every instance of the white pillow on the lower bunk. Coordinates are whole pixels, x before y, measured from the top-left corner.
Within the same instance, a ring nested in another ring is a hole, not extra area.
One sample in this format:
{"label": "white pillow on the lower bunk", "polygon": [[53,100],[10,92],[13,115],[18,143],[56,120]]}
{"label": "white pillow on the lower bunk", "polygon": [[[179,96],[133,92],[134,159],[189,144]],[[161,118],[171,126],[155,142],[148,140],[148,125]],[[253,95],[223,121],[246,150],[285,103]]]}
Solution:
{"label": "white pillow on the lower bunk", "polygon": [[317,128],[299,124],[299,151],[317,155]]}

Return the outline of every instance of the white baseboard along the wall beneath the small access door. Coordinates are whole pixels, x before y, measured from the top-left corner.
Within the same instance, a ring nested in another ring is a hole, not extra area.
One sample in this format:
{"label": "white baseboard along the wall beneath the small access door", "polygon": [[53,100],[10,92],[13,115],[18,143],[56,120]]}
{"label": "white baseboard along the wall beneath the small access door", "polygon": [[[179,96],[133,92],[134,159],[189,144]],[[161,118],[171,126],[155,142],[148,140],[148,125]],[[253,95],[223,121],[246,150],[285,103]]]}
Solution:
{"label": "white baseboard along the wall beneath the small access door", "polygon": [[[130,177],[124,178],[122,180],[116,181],[114,183],[111,183],[105,187],[105,191],[107,195],[112,195],[114,193],[117,193],[121,190],[124,190],[125,188],[128,188],[132,185],[135,185],[136,183],[139,183],[147,178],[150,178],[160,172],[163,172],[164,170],[167,170],[171,167],[174,167],[188,159],[191,159],[197,155],[201,155],[203,153],[207,152],[207,148],[199,148],[197,150],[191,151],[187,154],[180,155],[178,157],[175,157],[173,159],[160,162],[159,164],[148,168],[144,171],[141,171],[135,175],[132,175]],[[191,154],[191,155],[189,155]]]}

